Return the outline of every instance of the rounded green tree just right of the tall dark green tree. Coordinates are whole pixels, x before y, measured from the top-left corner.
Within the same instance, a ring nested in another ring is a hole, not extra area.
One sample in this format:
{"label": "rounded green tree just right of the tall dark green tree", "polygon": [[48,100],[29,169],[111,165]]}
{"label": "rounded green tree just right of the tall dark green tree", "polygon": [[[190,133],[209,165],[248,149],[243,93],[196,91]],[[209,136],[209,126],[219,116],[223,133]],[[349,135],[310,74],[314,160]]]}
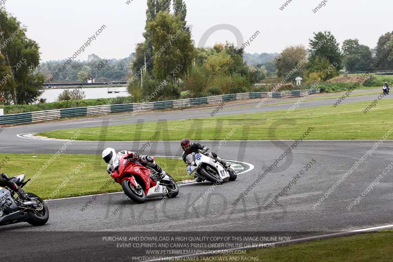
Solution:
{"label": "rounded green tree just right of the tall dark green tree", "polygon": [[345,68],[349,72],[368,71],[372,62],[371,50],[359,44],[358,39],[347,39],[342,42],[342,54]]}

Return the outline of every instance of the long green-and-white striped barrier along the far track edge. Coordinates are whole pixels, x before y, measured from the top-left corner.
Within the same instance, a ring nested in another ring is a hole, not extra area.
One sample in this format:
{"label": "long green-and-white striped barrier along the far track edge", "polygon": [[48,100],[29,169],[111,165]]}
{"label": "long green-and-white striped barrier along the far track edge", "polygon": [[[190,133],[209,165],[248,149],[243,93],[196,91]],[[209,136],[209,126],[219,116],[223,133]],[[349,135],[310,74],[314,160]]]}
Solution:
{"label": "long green-and-white striped barrier along the far track edge", "polygon": [[320,89],[295,90],[285,92],[254,92],[241,94],[225,94],[209,97],[198,97],[181,100],[170,100],[150,103],[135,103],[122,105],[104,105],[94,107],[66,108],[58,110],[38,111],[31,113],[13,114],[0,116],[0,124],[18,124],[29,122],[40,122],[47,120],[55,120],[59,118],[74,116],[95,116],[119,112],[141,112],[149,110],[162,110],[168,108],[185,108],[192,106],[200,106],[206,104],[217,104],[222,102],[255,99],[255,98],[288,98],[300,97],[309,94],[319,93]]}

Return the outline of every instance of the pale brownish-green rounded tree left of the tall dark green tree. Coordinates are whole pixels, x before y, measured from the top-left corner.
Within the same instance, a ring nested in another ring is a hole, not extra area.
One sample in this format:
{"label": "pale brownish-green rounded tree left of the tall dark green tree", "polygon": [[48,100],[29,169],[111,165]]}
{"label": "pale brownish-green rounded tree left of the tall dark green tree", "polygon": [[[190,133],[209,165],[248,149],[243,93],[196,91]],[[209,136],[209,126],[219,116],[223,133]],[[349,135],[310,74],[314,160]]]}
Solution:
{"label": "pale brownish-green rounded tree left of the tall dark green tree", "polygon": [[294,81],[299,76],[303,77],[306,60],[307,50],[303,46],[291,46],[284,49],[276,59],[277,75],[285,77],[289,74],[290,78],[287,81]]}

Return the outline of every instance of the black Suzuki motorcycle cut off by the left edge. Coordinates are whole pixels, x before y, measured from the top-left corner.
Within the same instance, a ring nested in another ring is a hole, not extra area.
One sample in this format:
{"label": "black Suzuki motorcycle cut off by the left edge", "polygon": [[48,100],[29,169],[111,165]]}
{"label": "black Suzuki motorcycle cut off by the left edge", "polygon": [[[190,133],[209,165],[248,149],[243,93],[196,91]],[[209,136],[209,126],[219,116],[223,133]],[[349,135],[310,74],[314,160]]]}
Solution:
{"label": "black Suzuki motorcycle cut off by the left edge", "polygon": [[8,177],[0,174],[0,225],[28,222],[33,226],[42,226],[48,222],[49,210],[38,196],[25,193],[22,189],[25,175]]}

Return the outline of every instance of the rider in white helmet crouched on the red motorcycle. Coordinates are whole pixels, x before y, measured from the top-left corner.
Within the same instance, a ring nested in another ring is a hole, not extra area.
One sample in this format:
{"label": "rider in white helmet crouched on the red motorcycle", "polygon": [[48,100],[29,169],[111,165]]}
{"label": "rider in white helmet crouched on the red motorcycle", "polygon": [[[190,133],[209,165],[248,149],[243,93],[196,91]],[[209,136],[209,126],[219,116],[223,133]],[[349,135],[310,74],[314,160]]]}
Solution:
{"label": "rider in white helmet crouched on the red motorcycle", "polygon": [[158,179],[161,180],[165,177],[167,174],[157,163],[154,161],[154,159],[148,155],[140,156],[135,152],[128,151],[128,150],[122,150],[119,151],[116,154],[116,151],[108,147],[102,152],[102,158],[104,159],[105,163],[108,164],[107,167],[107,172],[108,174],[112,174],[113,171],[117,171],[119,166],[120,166],[120,159],[126,156],[128,159],[132,159],[134,161],[137,161],[139,164],[141,164],[144,167],[148,167],[153,169],[155,172],[157,172],[157,175],[155,177],[152,177],[153,179]]}

